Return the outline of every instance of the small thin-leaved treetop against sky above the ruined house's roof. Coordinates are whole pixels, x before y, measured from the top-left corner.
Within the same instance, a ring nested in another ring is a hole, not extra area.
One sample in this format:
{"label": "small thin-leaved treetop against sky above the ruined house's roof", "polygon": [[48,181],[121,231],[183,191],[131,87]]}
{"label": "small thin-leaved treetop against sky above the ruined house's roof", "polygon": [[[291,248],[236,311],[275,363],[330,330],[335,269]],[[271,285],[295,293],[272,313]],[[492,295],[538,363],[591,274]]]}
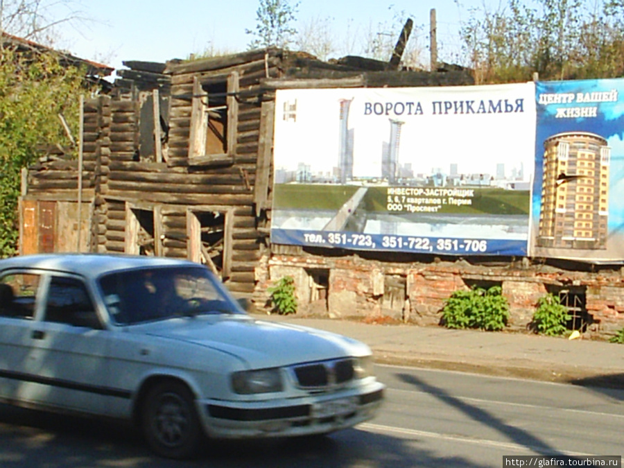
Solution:
{"label": "small thin-leaved treetop against sky above the ruined house's roof", "polygon": [[256,27],[245,30],[246,34],[256,37],[250,42],[249,48],[276,46],[286,49],[297,34],[297,30],[291,25],[296,19],[298,7],[298,2],[291,6],[288,0],[260,0],[260,6],[256,10]]}

